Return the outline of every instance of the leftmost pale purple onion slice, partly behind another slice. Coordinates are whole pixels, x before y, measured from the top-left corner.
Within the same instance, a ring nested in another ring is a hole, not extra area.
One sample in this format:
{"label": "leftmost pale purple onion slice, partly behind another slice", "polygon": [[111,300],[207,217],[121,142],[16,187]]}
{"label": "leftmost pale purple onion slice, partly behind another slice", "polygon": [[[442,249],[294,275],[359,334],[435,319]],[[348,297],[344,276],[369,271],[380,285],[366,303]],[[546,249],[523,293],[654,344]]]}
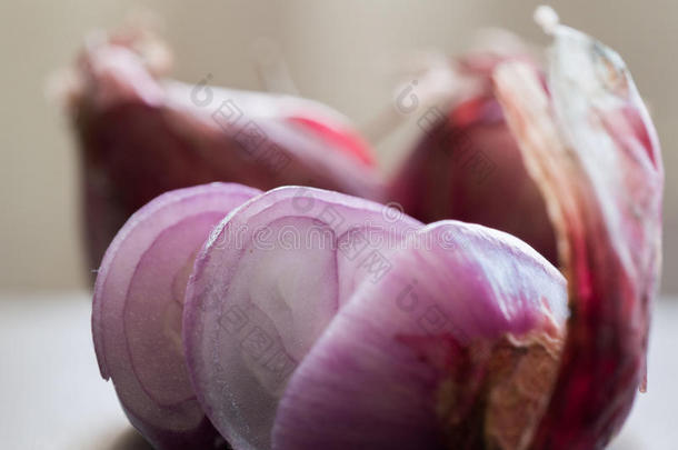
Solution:
{"label": "leftmost pale purple onion slice, partly behind another slice", "polygon": [[164,193],[136,212],[106,252],[92,333],[101,376],[158,449],[223,446],[195,398],[181,346],[186,283],[213,226],[260,191],[212,183]]}

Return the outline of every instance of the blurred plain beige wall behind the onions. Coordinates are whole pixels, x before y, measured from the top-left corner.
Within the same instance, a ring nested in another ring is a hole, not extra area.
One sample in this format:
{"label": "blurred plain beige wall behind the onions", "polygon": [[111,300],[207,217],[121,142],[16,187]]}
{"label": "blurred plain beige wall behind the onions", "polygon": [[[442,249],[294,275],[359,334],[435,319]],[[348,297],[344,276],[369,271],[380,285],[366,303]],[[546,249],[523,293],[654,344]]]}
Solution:
{"label": "blurred plain beige wall behind the onions", "polygon": [[[387,62],[416,49],[460,51],[470,31],[502,26],[544,42],[537,1],[148,1],[164,18],[175,74],[260,89],[249,43],[277,40],[303,96],[357,123],[391,99]],[[552,1],[564,21],[616,48],[648,99],[667,167],[665,282],[678,293],[678,2]],[[84,283],[77,217],[77,154],[47,74],[69,62],[92,29],[121,22],[133,1],[3,0],[0,3],[0,289]],[[398,152],[379,148],[385,161]]]}

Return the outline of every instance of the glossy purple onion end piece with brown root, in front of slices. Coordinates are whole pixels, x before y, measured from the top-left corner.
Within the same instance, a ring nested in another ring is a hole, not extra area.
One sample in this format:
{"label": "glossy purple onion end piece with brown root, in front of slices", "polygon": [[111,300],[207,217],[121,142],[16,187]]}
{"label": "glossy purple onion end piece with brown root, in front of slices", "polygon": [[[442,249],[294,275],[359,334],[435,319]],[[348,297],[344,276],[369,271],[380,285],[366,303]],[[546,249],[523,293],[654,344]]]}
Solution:
{"label": "glossy purple onion end piece with brown root, in front of slices", "polygon": [[[293,373],[273,449],[481,448],[482,429],[505,443],[521,420],[538,423],[567,318],[564,277],[517,238],[456,221],[421,229],[391,262]],[[518,353],[515,368],[502,362]]]}

